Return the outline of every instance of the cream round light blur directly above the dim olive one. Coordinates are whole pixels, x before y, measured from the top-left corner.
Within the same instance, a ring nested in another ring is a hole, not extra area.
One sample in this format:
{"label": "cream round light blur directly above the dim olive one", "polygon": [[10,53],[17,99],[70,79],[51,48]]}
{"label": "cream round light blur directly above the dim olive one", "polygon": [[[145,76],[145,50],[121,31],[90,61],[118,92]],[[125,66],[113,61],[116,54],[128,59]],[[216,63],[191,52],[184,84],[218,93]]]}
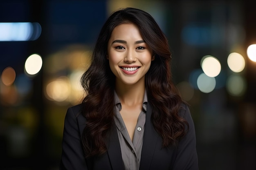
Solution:
{"label": "cream round light blur directly above the dim olive one", "polygon": [[227,64],[231,71],[239,73],[245,68],[245,59],[239,53],[230,53],[227,57]]}

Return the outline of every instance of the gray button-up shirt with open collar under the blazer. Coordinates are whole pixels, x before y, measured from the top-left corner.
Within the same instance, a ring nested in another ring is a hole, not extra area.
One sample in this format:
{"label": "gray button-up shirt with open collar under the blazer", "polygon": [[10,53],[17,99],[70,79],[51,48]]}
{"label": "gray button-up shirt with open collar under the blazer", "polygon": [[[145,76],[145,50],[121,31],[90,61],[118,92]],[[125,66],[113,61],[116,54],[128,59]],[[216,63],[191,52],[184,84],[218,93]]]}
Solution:
{"label": "gray button-up shirt with open collar under the blazer", "polygon": [[119,143],[121,147],[121,155],[124,163],[125,170],[139,170],[140,159],[141,159],[141,149],[143,144],[144,136],[144,125],[146,121],[146,110],[147,110],[147,93],[144,93],[144,99],[142,104],[142,110],[139,114],[137,125],[135,128],[133,140],[131,141],[124,120],[120,114],[122,108],[121,102],[115,92],[115,124],[117,126],[117,134],[119,138]]}

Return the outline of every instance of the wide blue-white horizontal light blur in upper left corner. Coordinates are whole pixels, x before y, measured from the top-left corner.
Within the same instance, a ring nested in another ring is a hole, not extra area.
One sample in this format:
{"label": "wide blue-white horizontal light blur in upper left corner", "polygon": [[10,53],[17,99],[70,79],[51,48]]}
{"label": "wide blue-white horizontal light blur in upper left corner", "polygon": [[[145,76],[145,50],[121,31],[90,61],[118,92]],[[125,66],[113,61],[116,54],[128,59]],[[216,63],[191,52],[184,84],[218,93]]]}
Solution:
{"label": "wide blue-white horizontal light blur in upper left corner", "polygon": [[41,34],[38,22],[1,22],[0,41],[36,40]]}

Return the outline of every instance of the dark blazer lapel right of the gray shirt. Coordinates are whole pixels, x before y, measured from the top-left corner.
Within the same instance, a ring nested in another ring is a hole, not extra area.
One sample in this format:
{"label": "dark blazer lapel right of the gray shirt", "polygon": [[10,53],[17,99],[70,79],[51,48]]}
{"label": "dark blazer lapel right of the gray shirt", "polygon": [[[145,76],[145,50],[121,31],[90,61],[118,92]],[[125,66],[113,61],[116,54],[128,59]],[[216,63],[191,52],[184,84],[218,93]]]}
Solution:
{"label": "dark blazer lapel right of the gray shirt", "polygon": [[148,170],[150,168],[150,162],[153,159],[153,154],[155,152],[155,146],[157,144],[157,139],[159,135],[155,131],[153,124],[151,123],[152,108],[150,104],[147,105],[146,112],[146,123],[144,131],[143,146],[141,150],[141,161],[140,170]]}

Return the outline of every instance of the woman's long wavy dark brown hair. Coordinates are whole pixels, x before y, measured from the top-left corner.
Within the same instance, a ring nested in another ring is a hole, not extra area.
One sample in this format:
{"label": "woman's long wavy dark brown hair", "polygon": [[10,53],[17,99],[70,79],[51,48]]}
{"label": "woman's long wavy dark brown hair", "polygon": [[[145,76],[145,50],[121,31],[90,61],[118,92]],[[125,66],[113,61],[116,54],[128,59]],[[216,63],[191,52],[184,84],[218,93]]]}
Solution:
{"label": "woman's long wavy dark brown hair", "polygon": [[178,115],[182,99],[172,82],[171,52],[166,36],[147,12],[135,8],[120,9],[112,13],[103,25],[94,46],[92,63],[81,77],[87,93],[82,102],[82,114],[86,118],[82,143],[86,157],[106,152],[106,134],[115,125],[115,75],[110,70],[106,55],[113,29],[124,23],[138,26],[155,55],[145,83],[148,102],[153,109],[151,121],[163,139],[163,147],[176,146],[188,127],[186,120]]}

